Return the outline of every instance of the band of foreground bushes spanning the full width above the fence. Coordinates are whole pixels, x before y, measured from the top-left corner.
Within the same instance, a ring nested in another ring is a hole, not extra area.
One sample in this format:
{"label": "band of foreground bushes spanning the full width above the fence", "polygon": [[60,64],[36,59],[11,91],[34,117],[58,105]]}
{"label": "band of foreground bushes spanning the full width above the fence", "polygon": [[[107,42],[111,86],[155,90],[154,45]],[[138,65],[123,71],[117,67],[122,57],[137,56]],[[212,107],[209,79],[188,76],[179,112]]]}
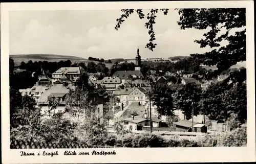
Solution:
{"label": "band of foreground bushes spanning the full width above the fence", "polygon": [[[53,127],[53,123],[56,122],[47,123],[49,123],[49,126],[47,127],[50,128]],[[54,131],[48,131],[48,133],[34,133],[34,129],[31,130],[26,126],[20,126],[18,128],[11,129],[11,138],[22,140],[33,139],[42,143],[82,144],[87,145],[88,147],[241,147],[246,146],[247,144],[245,128],[237,128],[232,131],[216,135],[205,134],[191,139],[183,139],[179,136],[163,136],[150,132],[134,134],[125,131],[125,133],[119,132],[115,134],[108,134],[104,126],[98,124],[98,122],[94,120],[90,120],[90,124],[87,122],[82,125],[76,125],[75,127],[65,120],[60,123],[62,124],[53,128]],[[68,129],[62,127],[67,127],[67,125],[69,125]],[[58,132],[56,129],[58,129]],[[46,130],[44,130],[44,132],[46,132]],[[46,139],[46,136],[48,139]]]}

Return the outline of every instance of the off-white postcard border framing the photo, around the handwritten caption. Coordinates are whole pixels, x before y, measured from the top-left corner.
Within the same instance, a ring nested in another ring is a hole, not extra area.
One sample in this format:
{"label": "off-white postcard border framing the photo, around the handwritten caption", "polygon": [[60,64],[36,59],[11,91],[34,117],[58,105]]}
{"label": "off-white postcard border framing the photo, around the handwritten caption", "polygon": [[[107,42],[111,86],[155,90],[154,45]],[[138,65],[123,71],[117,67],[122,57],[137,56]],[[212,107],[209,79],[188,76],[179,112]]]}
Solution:
{"label": "off-white postcard border framing the photo, around the handwritten caption", "polygon": [[[58,156],[20,156],[10,149],[9,123],[9,11],[20,10],[120,10],[125,8],[246,8],[247,129],[248,146],[232,148],[113,148],[26,149],[54,152]],[[1,4],[1,97],[2,163],[102,163],[102,162],[231,162],[255,161],[255,86],[253,1],[102,2],[102,3],[2,3]],[[91,152],[115,150],[116,155],[64,156],[66,150]]]}

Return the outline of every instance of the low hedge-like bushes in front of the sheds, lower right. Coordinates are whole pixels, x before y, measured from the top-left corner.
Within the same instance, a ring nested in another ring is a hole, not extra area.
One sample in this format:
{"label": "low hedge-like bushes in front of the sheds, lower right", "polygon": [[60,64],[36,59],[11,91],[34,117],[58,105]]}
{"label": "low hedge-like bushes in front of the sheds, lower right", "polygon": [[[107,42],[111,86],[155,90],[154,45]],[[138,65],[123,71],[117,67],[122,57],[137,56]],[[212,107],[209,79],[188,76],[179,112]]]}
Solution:
{"label": "low hedge-like bushes in front of the sheds, lower right", "polygon": [[126,133],[109,134],[105,145],[115,147],[146,148],[146,147],[241,147],[246,146],[245,128],[217,135],[202,135],[195,139],[181,139],[179,136],[164,137],[159,134],[145,132],[141,134]]}

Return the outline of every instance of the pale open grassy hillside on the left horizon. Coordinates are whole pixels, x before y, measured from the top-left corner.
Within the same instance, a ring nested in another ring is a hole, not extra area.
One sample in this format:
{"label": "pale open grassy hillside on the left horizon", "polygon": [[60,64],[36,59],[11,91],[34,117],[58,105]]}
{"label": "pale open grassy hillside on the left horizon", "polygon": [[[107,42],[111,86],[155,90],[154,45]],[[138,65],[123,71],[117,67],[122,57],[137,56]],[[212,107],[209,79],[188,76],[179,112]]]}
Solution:
{"label": "pale open grassy hillside on the left horizon", "polygon": [[[27,63],[29,60],[35,61],[48,61],[48,62],[59,62],[61,60],[66,61],[70,60],[72,63],[75,62],[84,62],[86,65],[91,61],[86,58],[76,57],[76,56],[64,56],[64,55],[46,55],[46,54],[31,54],[31,55],[10,55],[10,58],[14,60],[15,66],[20,65],[22,61]],[[94,63],[98,63],[98,61],[93,61]],[[111,67],[112,64],[105,63],[106,67]]]}

